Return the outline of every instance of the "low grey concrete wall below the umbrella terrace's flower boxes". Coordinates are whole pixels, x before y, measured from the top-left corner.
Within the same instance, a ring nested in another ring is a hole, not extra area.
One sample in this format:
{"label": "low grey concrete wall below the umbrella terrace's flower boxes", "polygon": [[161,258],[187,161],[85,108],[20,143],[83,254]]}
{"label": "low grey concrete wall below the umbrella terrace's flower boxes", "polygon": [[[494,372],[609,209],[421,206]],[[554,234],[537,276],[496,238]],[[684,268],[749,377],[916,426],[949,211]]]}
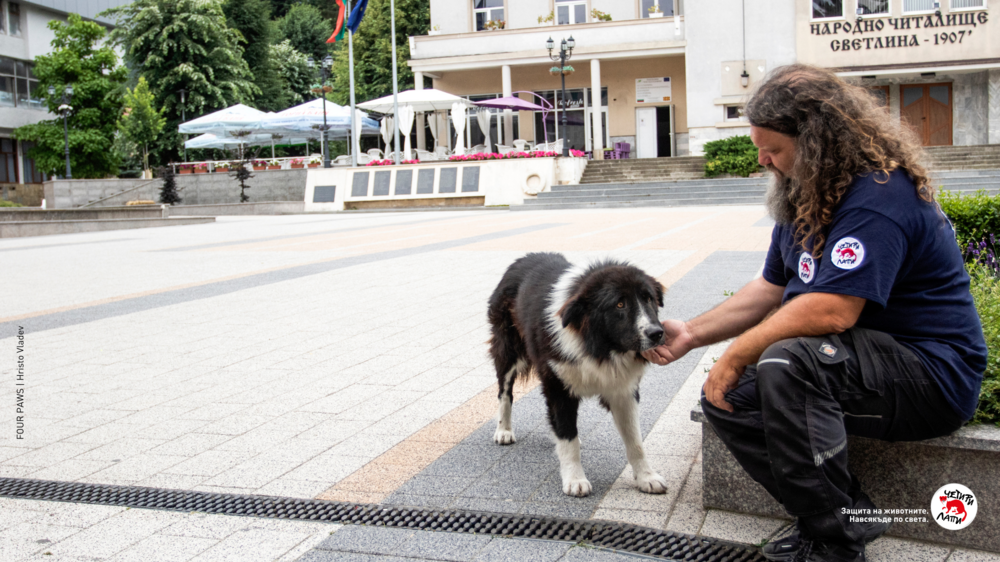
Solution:
{"label": "low grey concrete wall below the umbrella terrace's flower boxes", "polygon": [[[228,174],[178,175],[177,189],[182,205],[239,203],[240,188]],[[254,172],[247,181],[251,201],[302,201],[306,170]],[[45,182],[46,206],[50,209],[81,207],[108,198],[100,206],[114,207],[134,200],[160,200],[160,180],[56,180]],[[127,191],[131,190],[131,191]]]}

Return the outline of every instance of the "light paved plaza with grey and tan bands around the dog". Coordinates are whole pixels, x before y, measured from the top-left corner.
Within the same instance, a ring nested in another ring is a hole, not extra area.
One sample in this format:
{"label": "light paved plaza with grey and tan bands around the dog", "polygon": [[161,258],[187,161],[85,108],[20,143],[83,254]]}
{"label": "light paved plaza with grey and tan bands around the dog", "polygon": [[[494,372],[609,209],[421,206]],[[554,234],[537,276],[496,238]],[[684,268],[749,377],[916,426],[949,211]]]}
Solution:
{"label": "light paved plaza with grey and tan bands around the dog", "polygon": [[[557,251],[635,263],[668,288],[661,317],[690,318],[759,274],[771,225],[761,206],[470,210],[0,240],[0,478],[599,519],[759,544],[787,521],[701,505],[690,412],[724,345],[643,381],[640,425],[668,492],[635,489],[611,416],[590,401],[579,426],[594,491],[571,498],[535,382],[515,388],[517,443],[492,442],[486,301],[514,259]],[[868,552],[1000,561],[892,538]],[[0,498],[3,561],[631,558],[571,542]]]}

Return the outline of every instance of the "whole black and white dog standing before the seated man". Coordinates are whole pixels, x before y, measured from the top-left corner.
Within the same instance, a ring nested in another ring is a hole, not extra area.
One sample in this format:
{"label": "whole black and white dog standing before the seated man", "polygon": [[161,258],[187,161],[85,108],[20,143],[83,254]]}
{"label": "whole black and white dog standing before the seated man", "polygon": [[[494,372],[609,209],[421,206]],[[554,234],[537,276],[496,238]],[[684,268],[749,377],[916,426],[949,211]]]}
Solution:
{"label": "whole black and white dog standing before the seated man", "polygon": [[489,305],[490,354],[500,383],[493,440],[514,442],[514,379],[527,377],[534,367],[557,439],[563,492],[590,494],[576,419],[580,399],[591,396],[614,416],[639,489],[666,492],[666,481],[646,462],[638,417],[639,381],[646,367],[640,352],[663,343],[657,319],[661,306],[663,285],[626,263],[581,268],[551,253],[515,261]]}

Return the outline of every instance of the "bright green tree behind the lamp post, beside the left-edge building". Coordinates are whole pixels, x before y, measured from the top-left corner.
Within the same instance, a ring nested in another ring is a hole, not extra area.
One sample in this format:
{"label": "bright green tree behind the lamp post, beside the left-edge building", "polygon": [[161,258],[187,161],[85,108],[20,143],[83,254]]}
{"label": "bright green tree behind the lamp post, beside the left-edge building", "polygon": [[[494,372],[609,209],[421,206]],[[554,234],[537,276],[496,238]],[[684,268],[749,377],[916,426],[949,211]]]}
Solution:
{"label": "bright green tree behind the lamp post, beside the left-edge building", "polygon": [[[104,27],[70,14],[68,22],[50,21],[55,34],[52,52],[35,58],[34,74],[45,94],[45,106],[59,114],[63,91],[73,86],[69,111],[70,165],[75,178],[103,178],[118,173],[119,156],[112,150],[115,120],[121,114],[121,89],[127,70],[118,64],[110,46],[98,46],[106,35]],[[48,88],[55,87],[55,95]],[[25,125],[14,131],[15,138],[36,143],[28,151],[45,173],[65,169],[63,119]]]}

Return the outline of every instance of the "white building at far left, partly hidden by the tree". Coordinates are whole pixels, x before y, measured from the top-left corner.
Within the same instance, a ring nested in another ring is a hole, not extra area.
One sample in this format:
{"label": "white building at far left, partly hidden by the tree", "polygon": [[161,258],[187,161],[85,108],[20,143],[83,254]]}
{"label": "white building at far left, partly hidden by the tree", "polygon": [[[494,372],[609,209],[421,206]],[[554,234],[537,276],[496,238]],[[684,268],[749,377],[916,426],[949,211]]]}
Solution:
{"label": "white building at far left, partly hidden by the tree", "polygon": [[32,74],[38,55],[51,52],[52,20],[76,13],[110,27],[97,14],[128,0],[0,0],[0,184],[41,182],[42,174],[27,157],[30,145],[14,140],[14,129],[53,116],[43,105]]}

